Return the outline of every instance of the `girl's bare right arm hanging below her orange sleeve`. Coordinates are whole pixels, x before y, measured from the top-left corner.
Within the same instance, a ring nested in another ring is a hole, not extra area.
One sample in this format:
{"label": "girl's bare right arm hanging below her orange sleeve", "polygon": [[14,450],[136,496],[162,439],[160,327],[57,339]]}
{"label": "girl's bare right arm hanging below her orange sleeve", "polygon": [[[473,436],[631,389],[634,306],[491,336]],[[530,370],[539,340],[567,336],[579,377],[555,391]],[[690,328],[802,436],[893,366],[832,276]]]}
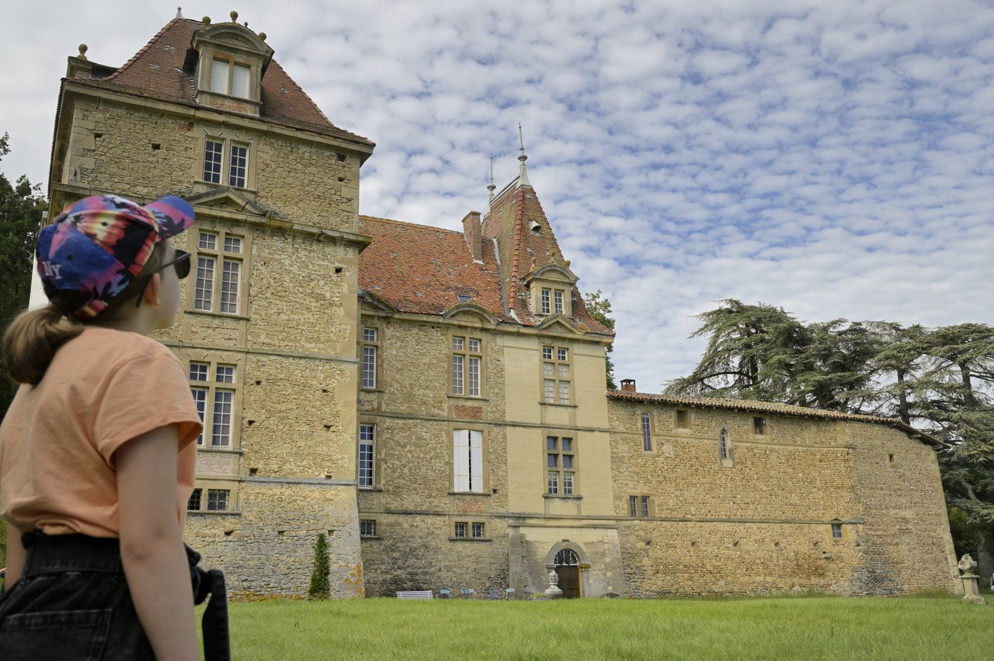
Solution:
{"label": "girl's bare right arm hanging below her orange sleeve", "polygon": [[190,566],[176,513],[178,445],[171,424],[129,440],[114,454],[124,576],[160,661],[200,659]]}

